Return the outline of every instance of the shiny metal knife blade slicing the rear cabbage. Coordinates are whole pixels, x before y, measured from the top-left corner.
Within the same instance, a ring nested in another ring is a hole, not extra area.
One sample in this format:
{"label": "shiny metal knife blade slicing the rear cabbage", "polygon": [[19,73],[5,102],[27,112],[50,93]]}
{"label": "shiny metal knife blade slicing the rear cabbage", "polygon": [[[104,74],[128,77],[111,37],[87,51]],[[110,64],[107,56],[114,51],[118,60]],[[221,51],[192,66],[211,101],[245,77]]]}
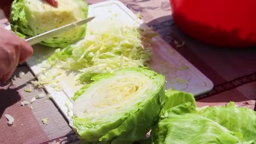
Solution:
{"label": "shiny metal knife blade slicing the rear cabbage", "polygon": [[64,26],[56,28],[56,29],[52,29],[52,30],[44,32],[44,33],[42,33],[40,35],[36,35],[35,37],[30,37],[30,38],[26,39],[26,41],[30,45],[34,45],[36,43],[40,43],[41,41],[43,41],[43,40],[45,40],[47,38],[54,37],[56,35],[61,34],[62,32],[67,32],[67,31],[69,31],[71,29],[74,29],[74,28],[79,27],[79,26],[81,26],[83,24],[86,24],[89,21],[93,20],[94,18],[95,17],[90,17],[90,18],[87,18],[87,19],[83,19],[83,20],[80,20],[80,21],[73,22],[71,24],[64,25]]}

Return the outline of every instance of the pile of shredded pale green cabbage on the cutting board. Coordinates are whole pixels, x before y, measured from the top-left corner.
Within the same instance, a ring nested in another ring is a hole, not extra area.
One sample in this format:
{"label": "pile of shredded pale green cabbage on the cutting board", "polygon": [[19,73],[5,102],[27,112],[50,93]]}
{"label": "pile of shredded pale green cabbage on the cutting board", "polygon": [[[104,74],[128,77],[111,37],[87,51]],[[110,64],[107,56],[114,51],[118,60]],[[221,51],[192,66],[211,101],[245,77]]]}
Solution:
{"label": "pile of shredded pale green cabbage on the cutting board", "polygon": [[56,49],[48,57],[47,65],[80,72],[78,83],[125,67],[147,67],[152,55],[152,37],[156,35],[152,29],[139,27],[113,27],[91,32],[78,43]]}

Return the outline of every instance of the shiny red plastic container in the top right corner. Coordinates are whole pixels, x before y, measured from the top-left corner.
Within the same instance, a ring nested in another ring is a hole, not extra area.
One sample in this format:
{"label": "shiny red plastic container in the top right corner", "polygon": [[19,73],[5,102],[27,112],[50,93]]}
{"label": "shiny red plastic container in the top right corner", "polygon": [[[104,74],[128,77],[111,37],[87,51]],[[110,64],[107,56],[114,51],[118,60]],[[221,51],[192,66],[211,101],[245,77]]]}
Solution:
{"label": "shiny red plastic container in the top right corner", "polygon": [[187,35],[221,47],[256,46],[256,0],[170,0]]}

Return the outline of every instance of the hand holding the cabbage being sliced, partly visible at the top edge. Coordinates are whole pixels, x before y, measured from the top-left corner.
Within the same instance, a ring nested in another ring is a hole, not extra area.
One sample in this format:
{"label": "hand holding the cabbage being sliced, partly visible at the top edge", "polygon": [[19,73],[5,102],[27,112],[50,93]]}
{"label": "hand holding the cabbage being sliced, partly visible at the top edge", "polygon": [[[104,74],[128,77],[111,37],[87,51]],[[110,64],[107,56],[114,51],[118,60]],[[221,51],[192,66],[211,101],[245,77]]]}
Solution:
{"label": "hand holding the cabbage being sliced, partly visible at the top edge", "polygon": [[[57,0],[45,0],[46,2],[48,2],[50,5],[54,6],[54,7],[58,7],[58,1]],[[11,3],[13,2],[13,0],[0,0],[0,9],[3,10],[3,12],[5,13],[5,16],[7,19],[9,19],[10,16],[10,10],[11,10]]]}

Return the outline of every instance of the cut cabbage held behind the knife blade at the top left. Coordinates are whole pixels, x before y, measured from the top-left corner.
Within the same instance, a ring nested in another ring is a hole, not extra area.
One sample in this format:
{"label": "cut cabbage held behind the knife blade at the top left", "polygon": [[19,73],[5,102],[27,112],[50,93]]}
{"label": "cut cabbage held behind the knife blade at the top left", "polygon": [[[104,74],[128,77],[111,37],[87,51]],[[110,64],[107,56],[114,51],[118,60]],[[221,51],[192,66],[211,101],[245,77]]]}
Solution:
{"label": "cut cabbage held behind the knife blade at the top left", "polygon": [[[11,5],[11,29],[22,38],[87,18],[84,0],[58,0],[55,8],[45,0],[14,0]],[[85,36],[86,24],[41,42],[49,47],[66,47]]]}

